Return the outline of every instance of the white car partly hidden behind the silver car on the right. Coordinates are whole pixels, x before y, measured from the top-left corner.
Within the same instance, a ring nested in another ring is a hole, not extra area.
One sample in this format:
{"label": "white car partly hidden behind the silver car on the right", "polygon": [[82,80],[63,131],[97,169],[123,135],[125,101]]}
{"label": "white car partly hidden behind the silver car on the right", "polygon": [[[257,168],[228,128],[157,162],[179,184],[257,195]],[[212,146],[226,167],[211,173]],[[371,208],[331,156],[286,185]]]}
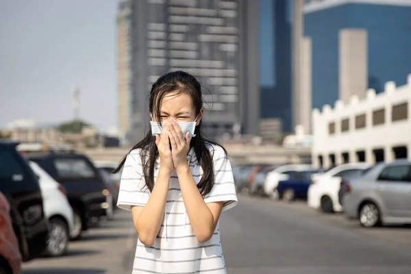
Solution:
{"label": "white car partly hidden behind the silver car on the right", "polygon": [[370,167],[371,165],[366,163],[340,164],[325,173],[312,176],[312,184],[307,194],[308,206],[328,213],[342,212],[338,191],[343,178],[359,176]]}

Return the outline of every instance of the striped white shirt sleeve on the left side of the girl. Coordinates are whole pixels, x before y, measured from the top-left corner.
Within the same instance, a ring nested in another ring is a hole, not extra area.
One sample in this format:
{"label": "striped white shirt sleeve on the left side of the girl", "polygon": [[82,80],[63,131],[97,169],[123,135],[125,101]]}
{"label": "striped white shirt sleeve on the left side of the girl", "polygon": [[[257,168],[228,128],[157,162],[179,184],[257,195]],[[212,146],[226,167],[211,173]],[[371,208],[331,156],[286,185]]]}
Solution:
{"label": "striped white shirt sleeve on the left side of the girl", "polygon": [[150,192],[145,186],[140,153],[132,151],[125,158],[117,207],[132,210],[132,206],[145,206],[149,197]]}

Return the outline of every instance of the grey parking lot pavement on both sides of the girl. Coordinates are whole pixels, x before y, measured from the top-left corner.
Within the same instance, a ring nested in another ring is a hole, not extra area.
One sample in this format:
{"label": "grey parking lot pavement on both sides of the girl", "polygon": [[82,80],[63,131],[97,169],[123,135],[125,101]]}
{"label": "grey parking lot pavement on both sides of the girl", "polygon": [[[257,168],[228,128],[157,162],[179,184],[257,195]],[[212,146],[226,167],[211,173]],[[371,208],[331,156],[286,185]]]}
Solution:
{"label": "grey parking lot pavement on both sides of the girl", "polygon": [[[366,229],[343,214],[322,214],[304,202],[239,195],[221,216],[229,274],[411,273],[411,228]],[[90,229],[62,258],[23,265],[23,274],[131,273],[136,233],[130,212]]]}

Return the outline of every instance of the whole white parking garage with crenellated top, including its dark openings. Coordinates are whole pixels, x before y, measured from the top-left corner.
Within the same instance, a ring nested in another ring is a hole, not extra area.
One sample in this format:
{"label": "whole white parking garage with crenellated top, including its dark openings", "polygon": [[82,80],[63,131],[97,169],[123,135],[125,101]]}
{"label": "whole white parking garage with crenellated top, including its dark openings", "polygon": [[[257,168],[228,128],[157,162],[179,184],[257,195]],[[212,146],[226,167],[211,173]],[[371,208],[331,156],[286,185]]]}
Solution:
{"label": "whole white parking garage with crenellated top, including its dark openings", "polygon": [[385,84],[384,92],[366,91],[347,104],[336,101],[312,111],[312,162],[328,167],[347,162],[411,158],[411,74],[404,86]]}

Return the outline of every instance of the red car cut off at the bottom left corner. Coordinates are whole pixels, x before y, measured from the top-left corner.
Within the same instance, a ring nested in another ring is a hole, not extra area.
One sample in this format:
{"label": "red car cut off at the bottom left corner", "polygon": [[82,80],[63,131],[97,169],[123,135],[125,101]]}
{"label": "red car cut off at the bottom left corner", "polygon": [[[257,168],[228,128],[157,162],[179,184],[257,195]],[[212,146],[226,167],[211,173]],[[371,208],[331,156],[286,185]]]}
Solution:
{"label": "red car cut off at the bottom left corner", "polygon": [[10,205],[0,192],[0,273],[20,274],[21,254],[12,227]]}

